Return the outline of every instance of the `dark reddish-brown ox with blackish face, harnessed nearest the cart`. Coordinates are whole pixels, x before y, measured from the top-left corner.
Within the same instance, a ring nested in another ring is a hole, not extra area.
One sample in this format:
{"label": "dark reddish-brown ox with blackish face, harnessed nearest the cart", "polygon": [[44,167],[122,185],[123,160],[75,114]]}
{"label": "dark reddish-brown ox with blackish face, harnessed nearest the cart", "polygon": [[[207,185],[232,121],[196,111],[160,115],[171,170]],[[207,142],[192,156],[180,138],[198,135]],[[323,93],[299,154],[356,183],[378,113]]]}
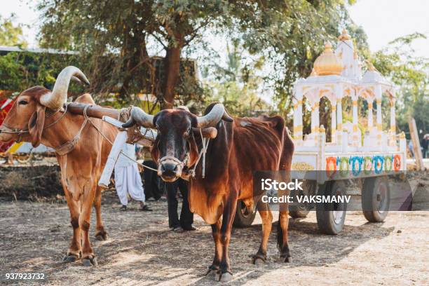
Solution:
{"label": "dark reddish-brown ox with blackish face, harnessed nearest the cart", "polygon": [[[175,181],[196,163],[198,149],[202,148],[199,128],[217,128],[217,137],[207,149],[205,178],[199,164],[189,192],[191,211],[212,225],[215,251],[207,273],[217,273],[221,281],[232,278],[228,247],[238,200],[248,207],[257,203],[262,239],[253,262],[265,261],[273,215],[267,204],[254,200],[259,194],[253,193],[252,172],[290,170],[294,145],[285,121],[280,116],[231,118],[222,104],[211,104],[202,117],[172,109],[151,116],[137,107],[133,107],[131,114],[123,127],[137,123],[158,130],[152,157],[158,161],[158,174],[166,182]],[[284,261],[290,261],[287,226],[287,207],[283,207],[278,223],[278,247]]]}

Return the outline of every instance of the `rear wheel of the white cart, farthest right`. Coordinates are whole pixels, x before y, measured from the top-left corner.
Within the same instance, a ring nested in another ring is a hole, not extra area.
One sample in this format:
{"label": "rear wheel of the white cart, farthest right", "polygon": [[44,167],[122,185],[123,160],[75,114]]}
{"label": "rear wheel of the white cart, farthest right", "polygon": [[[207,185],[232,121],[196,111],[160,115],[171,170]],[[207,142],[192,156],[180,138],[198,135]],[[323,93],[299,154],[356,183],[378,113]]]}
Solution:
{"label": "rear wheel of the white cart, farthest right", "polygon": [[388,178],[365,179],[362,186],[362,211],[368,222],[383,222],[389,212],[390,190]]}

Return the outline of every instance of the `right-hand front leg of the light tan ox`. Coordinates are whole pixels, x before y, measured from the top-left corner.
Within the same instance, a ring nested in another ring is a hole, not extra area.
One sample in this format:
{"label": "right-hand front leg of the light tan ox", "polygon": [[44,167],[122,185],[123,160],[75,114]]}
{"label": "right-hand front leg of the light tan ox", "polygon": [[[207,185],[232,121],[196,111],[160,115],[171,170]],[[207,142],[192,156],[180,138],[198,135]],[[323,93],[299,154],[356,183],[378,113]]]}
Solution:
{"label": "right-hand front leg of the light tan ox", "polygon": [[95,186],[93,186],[88,191],[84,191],[82,212],[81,216],[79,217],[79,226],[81,226],[83,240],[82,262],[84,266],[97,266],[97,260],[95,259],[95,254],[93,252],[93,247],[91,247],[89,236],[90,217],[91,210],[93,208],[94,196]]}

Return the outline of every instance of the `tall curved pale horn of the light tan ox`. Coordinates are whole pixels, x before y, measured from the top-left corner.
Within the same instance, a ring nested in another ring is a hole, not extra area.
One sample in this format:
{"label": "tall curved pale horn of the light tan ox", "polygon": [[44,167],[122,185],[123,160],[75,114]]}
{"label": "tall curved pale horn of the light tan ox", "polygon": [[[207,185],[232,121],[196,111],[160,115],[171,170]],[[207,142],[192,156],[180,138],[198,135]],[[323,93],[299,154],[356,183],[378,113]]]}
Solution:
{"label": "tall curved pale horn of the light tan ox", "polygon": [[49,109],[60,109],[67,101],[67,90],[69,90],[70,80],[78,80],[80,82],[90,84],[86,79],[85,74],[77,67],[65,67],[57,76],[52,93],[46,93],[40,97],[40,103]]}

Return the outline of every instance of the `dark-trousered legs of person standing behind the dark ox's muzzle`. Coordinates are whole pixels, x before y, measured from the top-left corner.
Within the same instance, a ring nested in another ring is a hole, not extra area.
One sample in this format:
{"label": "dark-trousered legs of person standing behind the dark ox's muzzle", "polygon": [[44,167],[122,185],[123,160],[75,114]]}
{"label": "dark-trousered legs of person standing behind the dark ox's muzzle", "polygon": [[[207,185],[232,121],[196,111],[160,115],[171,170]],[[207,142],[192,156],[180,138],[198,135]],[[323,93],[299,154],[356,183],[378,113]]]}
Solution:
{"label": "dark-trousered legs of person standing behind the dark ox's muzzle", "polygon": [[[177,189],[182,194],[182,212],[180,212],[180,219],[177,215]],[[172,231],[195,231],[193,227],[193,213],[189,210],[188,202],[188,184],[184,179],[178,179],[176,182],[166,182],[165,191],[167,193],[168,203],[168,225]]]}

